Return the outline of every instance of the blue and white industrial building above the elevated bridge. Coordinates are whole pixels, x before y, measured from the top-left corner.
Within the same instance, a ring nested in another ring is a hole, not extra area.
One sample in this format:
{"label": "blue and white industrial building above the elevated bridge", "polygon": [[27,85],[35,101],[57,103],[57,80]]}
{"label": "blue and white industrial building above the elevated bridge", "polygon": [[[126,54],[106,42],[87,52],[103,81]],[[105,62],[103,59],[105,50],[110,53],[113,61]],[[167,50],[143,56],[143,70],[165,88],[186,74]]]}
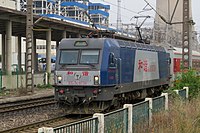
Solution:
{"label": "blue and white industrial building above the elevated bridge", "polygon": [[[21,10],[26,8],[24,1],[21,0]],[[33,0],[33,10],[37,15],[88,26],[91,23],[99,28],[109,25],[110,6],[91,3],[89,0]]]}

